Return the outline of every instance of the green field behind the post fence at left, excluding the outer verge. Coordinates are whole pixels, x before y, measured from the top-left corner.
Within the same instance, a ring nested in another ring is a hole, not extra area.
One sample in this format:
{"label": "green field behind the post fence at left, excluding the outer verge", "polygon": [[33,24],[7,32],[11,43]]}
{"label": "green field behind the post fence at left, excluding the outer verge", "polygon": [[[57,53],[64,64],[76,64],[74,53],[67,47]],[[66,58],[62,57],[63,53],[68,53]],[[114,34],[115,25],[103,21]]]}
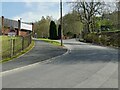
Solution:
{"label": "green field behind the post fence at left, excluding the outer verge", "polygon": [[27,48],[30,44],[29,37],[14,37],[1,36],[0,37],[1,53],[2,59],[10,58],[13,55],[21,52],[23,49]]}

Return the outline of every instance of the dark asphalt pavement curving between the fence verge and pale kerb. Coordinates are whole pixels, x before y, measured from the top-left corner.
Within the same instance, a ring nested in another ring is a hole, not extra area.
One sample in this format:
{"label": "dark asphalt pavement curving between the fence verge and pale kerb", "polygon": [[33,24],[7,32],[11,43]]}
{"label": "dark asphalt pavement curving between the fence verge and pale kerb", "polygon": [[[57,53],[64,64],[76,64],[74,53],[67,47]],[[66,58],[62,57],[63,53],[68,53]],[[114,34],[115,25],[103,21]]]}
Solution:
{"label": "dark asphalt pavement curving between the fence verge and pale kerb", "polygon": [[66,51],[66,48],[53,46],[52,44],[35,39],[35,46],[31,51],[29,51],[25,55],[13,59],[12,61],[3,63],[2,71],[8,71],[40,61],[44,61],[62,55]]}

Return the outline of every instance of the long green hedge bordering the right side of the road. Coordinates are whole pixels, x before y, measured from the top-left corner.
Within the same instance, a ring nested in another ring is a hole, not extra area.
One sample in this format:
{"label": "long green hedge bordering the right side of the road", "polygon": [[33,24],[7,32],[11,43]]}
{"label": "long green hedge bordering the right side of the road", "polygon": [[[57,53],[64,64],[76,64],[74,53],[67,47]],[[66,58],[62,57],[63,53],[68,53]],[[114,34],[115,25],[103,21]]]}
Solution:
{"label": "long green hedge bordering the right side of the road", "polygon": [[84,35],[84,41],[104,46],[120,47],[120,32],[117,33],[89,33]]}

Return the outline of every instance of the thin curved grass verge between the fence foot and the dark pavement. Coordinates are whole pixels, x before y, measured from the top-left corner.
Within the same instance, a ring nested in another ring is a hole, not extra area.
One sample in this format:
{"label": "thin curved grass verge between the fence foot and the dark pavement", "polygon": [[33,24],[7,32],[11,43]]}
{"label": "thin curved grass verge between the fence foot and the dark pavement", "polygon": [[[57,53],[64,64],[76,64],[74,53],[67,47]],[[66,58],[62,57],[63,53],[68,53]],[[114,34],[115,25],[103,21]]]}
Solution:
{"label": "thin curved grass verge between the fence foot and the dark pavement", "polygon": [[17,58],[17,57],[19,57],[19,56],[27,53],[28,51],[30,51],[34,47],[34,45],[35,45],[35,42],[32,41],[32,43],[30,44],[30,46],[27,47],[25,50],[21,51],[20,53],[18,53],[17,55],[15,55],[15,56],[13,56],[11,58],[6,58],[6,59],[3,59],[3,60],[0,60],[0,63],[5,63],[5,62],[8,62],[8,61],[11,61],[12,59]]}

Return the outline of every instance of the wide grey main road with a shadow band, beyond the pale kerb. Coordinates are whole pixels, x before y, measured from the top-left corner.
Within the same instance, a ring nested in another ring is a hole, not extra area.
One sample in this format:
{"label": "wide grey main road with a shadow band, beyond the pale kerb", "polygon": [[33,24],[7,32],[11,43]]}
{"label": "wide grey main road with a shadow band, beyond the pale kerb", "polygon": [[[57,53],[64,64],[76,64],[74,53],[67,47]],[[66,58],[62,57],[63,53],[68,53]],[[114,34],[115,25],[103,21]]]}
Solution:
{"label": "wide grey main road with a shadow band, beyond the pale kerb", "polygon": [[64,45],[66,55],[4,73],[3,88],[118,88],[118,50],[74,39]]}

